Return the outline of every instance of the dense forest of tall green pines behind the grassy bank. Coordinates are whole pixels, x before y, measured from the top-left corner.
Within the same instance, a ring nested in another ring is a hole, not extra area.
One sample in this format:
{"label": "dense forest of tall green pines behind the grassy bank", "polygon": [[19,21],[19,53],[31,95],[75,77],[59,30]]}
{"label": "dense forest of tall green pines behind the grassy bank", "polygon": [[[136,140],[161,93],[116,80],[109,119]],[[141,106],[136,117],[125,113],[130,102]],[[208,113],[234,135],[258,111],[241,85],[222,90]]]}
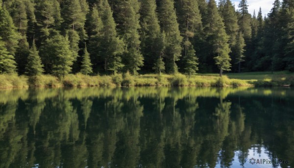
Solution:
{"label": "dense forest of tall green pines behind the grassy bank", "polygon": [[294,71],[294,0],[0,0],[0,73]]}

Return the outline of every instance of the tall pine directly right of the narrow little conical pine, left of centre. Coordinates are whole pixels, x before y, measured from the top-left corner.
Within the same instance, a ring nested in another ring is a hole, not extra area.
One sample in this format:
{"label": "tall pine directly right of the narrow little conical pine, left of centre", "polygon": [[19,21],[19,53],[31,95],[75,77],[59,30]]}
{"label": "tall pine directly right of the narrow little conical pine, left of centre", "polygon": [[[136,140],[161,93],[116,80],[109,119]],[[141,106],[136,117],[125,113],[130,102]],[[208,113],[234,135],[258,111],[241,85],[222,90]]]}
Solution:
{"label": "tall pine directly right of the narrow little conical pine, left of centre", "polygon": [[105,71],[110,70],[114,73],[120,72],[124,67],[122,54],[124,43],[117,36],[116,24],[114,22],[108,0],[100,2],[101,20],[103,23],[102,42],[99,47],[99,55],[103,59]]}

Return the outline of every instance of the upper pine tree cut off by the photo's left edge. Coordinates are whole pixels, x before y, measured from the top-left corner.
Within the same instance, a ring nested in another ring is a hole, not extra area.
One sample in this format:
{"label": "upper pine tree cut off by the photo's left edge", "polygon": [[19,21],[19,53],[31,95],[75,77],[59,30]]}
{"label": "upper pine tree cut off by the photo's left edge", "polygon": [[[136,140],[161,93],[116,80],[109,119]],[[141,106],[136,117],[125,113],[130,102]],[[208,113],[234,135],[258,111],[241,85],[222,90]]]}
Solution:
{"label": "upper pine tree cut off by the photo's left edge", "polygon": [[0,37],[2,41],[4,41],[8,52],[14,55],[18,47],[18,40],[21,36],[17,32],[17,28],[14,26],[8,11],[5,7],[2,7],[2,3],[0,4]]}

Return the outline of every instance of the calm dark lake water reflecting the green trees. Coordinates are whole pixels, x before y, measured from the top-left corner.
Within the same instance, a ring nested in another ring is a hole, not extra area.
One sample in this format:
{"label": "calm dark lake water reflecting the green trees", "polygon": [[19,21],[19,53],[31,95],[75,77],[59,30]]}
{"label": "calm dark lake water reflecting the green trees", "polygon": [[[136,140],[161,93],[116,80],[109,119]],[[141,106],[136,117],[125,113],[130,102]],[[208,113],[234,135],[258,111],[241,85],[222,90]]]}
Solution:
{"label": "calm dark lake water reflecting the green trees", "polygon": [[294,167],[294,89],[0,90],[0,168],[208,167]]}

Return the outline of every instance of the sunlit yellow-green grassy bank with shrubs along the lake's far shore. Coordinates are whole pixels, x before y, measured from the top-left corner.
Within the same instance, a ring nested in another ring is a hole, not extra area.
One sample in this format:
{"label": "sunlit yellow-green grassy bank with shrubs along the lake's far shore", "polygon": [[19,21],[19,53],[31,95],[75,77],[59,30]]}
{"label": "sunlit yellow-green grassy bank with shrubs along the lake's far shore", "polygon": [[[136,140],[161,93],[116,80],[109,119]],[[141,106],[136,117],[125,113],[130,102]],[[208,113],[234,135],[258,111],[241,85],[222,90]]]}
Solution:
{"label": "sunlit yellow-green grassy bank with shrubs along the lake's far shore", "polygon": [[88,87],[88,86],[294,86],[294,73],[289,72],[250,72],[229,73],[222,77],[218,74],[145,74],[130,75],[129,73],[103,76],[69,74],[62,79],[51,75],[18,76],[1,74],[0,88],[27,87]]}

